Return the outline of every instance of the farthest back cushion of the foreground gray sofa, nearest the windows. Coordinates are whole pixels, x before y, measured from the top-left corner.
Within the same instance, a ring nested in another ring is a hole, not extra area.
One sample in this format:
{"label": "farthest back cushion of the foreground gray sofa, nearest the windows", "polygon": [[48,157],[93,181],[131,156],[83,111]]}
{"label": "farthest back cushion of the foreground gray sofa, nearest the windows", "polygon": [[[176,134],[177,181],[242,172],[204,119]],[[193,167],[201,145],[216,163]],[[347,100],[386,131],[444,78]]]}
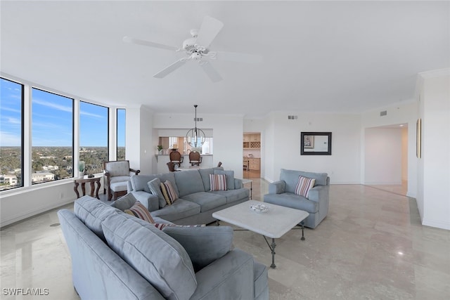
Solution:
{"label": "farthest back cushion of the foreground gray sofa, nearest the windows", "polygon": [[101,222],[111,214],[118,214],[121,211],[115,207],[97,200],[91,196],[83,196],[74,203],[75,216],[80,219],[87,228],[94,232],[102,240],[105,240]]}

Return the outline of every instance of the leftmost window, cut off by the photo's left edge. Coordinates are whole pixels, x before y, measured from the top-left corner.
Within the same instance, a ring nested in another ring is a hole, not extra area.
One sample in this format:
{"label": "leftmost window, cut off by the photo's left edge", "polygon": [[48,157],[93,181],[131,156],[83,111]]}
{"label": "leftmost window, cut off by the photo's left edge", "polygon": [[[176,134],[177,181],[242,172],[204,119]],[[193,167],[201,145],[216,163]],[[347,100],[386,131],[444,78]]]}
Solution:
{"label": "leftmost window, cut off by the photo's left edge", "polygon": [[0,79],[0,190],[23,186],[23,85]]}

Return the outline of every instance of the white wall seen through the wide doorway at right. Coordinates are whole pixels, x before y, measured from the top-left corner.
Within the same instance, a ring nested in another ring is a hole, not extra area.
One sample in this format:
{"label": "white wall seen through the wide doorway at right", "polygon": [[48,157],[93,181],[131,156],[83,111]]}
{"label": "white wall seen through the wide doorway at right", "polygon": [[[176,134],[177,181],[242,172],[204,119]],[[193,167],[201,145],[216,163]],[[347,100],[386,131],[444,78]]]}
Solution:
{"label": "white wall seen through the wide doorway at right", "polygon": [[401,184],[401,128],[368,128],[365,184]]}

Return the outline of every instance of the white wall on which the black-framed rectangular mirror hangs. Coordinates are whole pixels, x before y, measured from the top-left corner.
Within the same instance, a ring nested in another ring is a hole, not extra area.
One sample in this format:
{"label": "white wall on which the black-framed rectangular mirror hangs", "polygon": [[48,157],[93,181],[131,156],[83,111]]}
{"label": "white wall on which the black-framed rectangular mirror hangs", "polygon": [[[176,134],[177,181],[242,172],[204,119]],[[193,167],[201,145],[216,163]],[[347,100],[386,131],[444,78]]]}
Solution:
{"label": "white wall on which the black-framed rectangular mirror hangs", "polygon": [[[298,119],[289,120],[293,114]],[[276,181],[281,169],[296,169],[328,173],[331,183],[360,183],[360,128],[359,115],[273,112],[266,120],[264,178]],[[302,131],[331,132],[332,155],[300,155]]]}

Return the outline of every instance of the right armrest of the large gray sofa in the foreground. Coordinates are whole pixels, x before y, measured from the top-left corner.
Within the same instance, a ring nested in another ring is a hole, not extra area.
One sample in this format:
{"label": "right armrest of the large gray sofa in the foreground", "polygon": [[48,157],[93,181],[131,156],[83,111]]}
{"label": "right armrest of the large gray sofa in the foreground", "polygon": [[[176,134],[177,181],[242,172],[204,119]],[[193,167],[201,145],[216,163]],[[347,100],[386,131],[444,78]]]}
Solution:
{"label": "right armrest of the large gray sofa in the foreground", "polygon": [[233,249],[195,273],[191,299],[254,299],[253,256]]}

